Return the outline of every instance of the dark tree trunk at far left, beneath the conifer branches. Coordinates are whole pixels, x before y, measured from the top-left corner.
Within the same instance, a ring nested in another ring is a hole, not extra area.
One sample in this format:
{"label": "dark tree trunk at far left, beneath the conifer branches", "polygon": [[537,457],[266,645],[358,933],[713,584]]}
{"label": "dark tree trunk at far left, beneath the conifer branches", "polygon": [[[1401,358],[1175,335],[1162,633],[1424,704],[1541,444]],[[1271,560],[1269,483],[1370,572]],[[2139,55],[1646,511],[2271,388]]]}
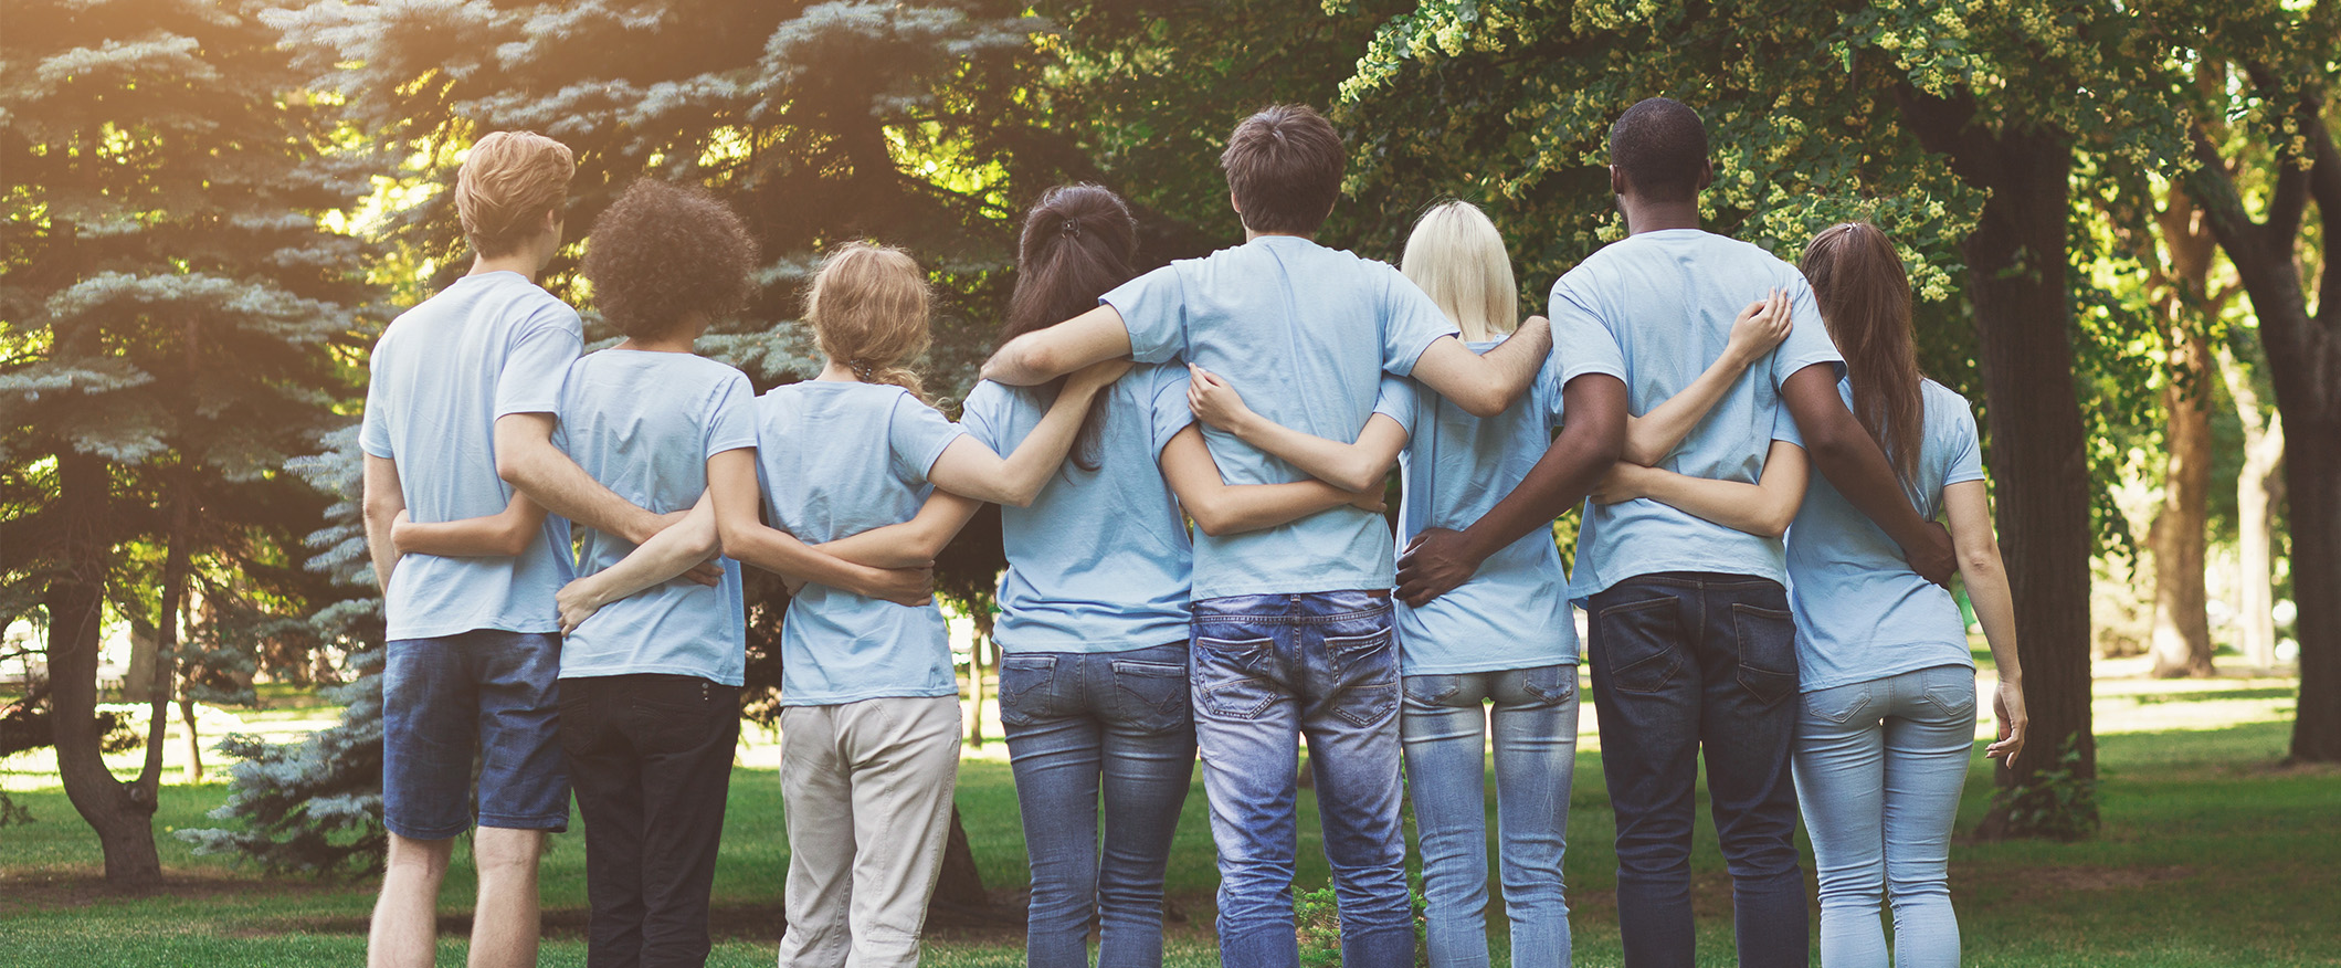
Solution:
{"label": "dark tree trunk at far left, beneath the conifer branches", "polygon": [[105,513],[108,471],[101,457],[56,457],[59,504],[66,513],[66,574],[49,581],[49,701],[56,710],[56,771],[66,797],[98,834],[105,881],[152,886],[162,881],[155,851],[155,795],[122,783],[98,752],[98,616],[105,588],[108,546],[98,532]]}

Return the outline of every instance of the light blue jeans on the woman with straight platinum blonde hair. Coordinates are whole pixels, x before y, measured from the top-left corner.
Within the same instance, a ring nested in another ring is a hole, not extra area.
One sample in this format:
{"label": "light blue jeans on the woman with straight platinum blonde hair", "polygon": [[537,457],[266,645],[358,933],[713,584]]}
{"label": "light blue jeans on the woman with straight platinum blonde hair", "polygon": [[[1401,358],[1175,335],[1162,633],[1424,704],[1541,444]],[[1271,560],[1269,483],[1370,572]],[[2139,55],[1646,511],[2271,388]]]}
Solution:
{"label": "light blue jeans on the woman with straight platinum blonde hair", "polygon": [[[1484,705],[1494,703],[1494,705]],[[1398,713],[1407,797],[1423,844],[1433,968],[1487,966],[1487,734],[1496,734],[1496,832],[1512,963],[1568,966],[1568,773],[1578,668],[1407,675]]]}

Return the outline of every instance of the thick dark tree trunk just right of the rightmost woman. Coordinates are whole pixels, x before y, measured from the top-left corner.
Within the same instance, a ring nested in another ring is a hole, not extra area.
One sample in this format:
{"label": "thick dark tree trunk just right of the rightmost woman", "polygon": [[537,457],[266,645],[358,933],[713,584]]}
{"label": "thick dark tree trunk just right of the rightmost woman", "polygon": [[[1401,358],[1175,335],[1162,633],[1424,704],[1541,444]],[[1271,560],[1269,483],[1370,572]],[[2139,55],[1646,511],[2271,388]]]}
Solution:
{"label": "thick dark tree trunk just right of the rightmost woman", "polygon": [[[2025,752],[1992,773],[2002,788],[2030,788],[2044,769],[2062,766],[2060,748],[2072,743],[2074,780],[2093,780],[2088,459],[2065,288],[2072,141],[2018,120],[1999,120],[1992,131],[1964,96],[1943,101],[1903,87],[1901,105],[1920,141],[1950,157],[1952,173],[1992,192],[1962,253],[1990,408],[1995,518],[2032,717]],[[2027,830],[1997,802],[1978,834]]]}

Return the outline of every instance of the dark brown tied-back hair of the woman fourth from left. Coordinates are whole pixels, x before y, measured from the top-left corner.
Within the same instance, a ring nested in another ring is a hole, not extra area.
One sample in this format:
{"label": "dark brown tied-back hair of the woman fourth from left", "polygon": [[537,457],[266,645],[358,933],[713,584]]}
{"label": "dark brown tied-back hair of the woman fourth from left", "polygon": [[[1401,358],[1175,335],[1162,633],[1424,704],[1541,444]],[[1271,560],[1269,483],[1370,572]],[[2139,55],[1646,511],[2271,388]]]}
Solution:
{"label": "dark brown tied-back hair of the woman fourth from left", "polygon": [[[1016,244],[1016,291],[1009,293],[1009,321],[1000,328],[1000,342],[1096,309],[1098,295],[1138,274],[1131,270],[1135,255],[1138,220],[1119,195],[1098,185],[1042,192],[1025,213],[1023,239]],[[1063,377],[1049,384],[1051,398],[1063,384]],[[1098,396],[1082,417],[1072,466],[1098,469],[1105,408],[1107,398]]]}

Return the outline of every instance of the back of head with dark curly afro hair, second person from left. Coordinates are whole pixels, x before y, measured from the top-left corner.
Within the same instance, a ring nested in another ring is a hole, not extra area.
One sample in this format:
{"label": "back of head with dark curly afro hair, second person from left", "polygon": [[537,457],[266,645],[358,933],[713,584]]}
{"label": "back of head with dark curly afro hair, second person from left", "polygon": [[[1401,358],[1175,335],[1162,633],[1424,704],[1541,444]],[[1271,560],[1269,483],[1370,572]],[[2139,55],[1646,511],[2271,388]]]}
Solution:
{"label": "back of head with dark curly afro hair, second person from left", "polygon": [[602,319],[658,340],[740,312],[756,284],[756,239],[705,188],[641,178],[592,223],[585,279]]}

